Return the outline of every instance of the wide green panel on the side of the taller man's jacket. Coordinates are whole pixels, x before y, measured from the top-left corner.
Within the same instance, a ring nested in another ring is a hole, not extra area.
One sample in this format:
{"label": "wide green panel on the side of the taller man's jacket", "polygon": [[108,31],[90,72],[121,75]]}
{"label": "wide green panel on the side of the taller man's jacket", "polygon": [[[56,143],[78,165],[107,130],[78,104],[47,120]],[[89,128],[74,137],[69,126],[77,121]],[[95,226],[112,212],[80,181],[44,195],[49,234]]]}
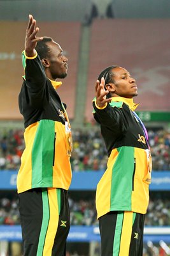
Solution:
{"label": "wide green panel on the side of the taller man's jacket", "polygon": [[32,188],[53,186],[54,139],[55,122],[41,120],[32,146]]}

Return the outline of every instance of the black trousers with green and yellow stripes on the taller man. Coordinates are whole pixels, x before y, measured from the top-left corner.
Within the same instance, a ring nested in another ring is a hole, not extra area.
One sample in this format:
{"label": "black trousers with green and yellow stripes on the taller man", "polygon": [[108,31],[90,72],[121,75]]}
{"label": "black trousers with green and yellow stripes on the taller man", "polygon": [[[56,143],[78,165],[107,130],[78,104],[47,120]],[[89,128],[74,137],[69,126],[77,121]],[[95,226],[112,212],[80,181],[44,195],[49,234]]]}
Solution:
{"label": "black trousers with green and yellow stripes on the taller man", "polygon": [[24,256],[65,256],[70,227],[67,191],[36,188],[18,197]]}

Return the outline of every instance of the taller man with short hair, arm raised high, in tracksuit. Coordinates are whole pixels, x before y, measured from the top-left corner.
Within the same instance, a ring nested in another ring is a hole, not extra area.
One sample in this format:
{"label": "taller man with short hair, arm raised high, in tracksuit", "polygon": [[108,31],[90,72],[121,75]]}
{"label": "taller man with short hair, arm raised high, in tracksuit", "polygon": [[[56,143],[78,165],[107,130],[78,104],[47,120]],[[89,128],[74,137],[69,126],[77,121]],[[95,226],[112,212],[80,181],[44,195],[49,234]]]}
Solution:
{"label": "taller man with short hair, arm raised high, in tracksuit", "polygon": [[55,91],[67,76],[67,58],[52,38],[38,37],[29,15],[19,95],[25,150],[17,177],[24,255],[64,256],[70,227],[71,127]]}

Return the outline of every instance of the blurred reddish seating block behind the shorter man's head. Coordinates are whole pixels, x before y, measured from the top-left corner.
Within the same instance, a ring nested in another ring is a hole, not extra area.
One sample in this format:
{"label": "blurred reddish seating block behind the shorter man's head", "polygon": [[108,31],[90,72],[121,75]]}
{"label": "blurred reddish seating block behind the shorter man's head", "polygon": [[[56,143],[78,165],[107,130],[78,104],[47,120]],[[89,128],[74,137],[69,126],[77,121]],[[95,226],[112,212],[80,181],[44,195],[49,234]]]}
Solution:
{"label": "blurred reddish seating block behind the shorter man's head", "polygon": [[100,72],[118,65],[131,72],[138,84],[134,100],[139,110],[168,111],[170,20],[103,19],[91,27],[85,116],[92,120],[94,84]]}

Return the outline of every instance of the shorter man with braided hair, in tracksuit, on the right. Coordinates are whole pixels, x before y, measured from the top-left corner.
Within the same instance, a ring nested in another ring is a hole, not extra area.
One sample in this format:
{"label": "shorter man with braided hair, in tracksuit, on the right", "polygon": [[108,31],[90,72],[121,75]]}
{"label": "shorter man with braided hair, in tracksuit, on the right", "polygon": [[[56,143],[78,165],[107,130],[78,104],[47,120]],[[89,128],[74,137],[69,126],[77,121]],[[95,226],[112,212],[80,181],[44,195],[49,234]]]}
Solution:
{"label": "shorter man with braided hair, in tracksuit, on the right", "polygon": [[102,256],[142,256],[152,159],[145,126],[135,113],[136,81],[111,66],[96,81],[94,118],[108,152],[107,170],[97,184],[96,208]]}

